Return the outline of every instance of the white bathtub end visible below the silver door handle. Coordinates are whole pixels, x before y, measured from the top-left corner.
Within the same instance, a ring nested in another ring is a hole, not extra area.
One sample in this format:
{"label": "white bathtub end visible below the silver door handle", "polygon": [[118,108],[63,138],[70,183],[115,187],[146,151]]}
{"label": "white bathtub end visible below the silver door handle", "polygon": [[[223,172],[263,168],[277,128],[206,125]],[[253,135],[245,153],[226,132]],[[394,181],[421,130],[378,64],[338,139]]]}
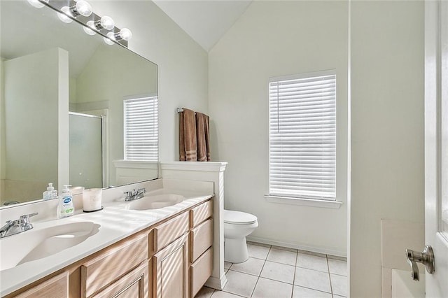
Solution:
{"label": "white bathtub end visible below the silver door handle", "polygon": [[421,274],[420,270],[420,281],[414,281],[410,270],[392,269],[392,297],[424,298],[425,274]]}

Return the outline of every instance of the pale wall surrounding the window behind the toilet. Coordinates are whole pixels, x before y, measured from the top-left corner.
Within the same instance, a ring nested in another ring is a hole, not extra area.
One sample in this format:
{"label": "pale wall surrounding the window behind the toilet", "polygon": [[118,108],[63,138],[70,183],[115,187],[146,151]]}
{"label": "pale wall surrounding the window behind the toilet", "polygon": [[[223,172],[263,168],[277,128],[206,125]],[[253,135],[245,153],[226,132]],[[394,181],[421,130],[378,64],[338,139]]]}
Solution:
{"label": "pale wall surrounding the window behind the toilet", "polygon": [[[346,255],[348,1],[254,1],[209,52],[212,158],[228,162],[225,208],[258,216],[251,235]],[[269,77],[336,69],[339,209],[269,203]]]}

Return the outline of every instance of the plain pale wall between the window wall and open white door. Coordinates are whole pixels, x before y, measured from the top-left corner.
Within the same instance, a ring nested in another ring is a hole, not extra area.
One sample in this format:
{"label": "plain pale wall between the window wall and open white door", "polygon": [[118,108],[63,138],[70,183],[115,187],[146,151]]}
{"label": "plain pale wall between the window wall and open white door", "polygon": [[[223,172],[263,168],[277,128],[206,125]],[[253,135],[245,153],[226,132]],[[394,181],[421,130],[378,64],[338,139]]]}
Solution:
{"label": "plain pale wall between the window wall and open white door", "polygon": [[351,1],[351,78],[350,294],[381,297],[381,218],[424,220],[423,1]]}

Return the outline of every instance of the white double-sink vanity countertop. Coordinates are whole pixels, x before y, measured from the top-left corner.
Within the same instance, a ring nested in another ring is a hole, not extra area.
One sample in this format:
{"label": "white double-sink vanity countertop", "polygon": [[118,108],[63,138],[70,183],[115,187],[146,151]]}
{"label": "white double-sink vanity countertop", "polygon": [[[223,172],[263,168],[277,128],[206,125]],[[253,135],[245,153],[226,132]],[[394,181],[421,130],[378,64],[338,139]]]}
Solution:
{"label": "white double-sink vanity countertop", "polygon": [[[213,183],[211,185],[206,185],[203,182],[198,183],[198,185],[192,185],[191,183],[174,183],[173,180],[170,180],[167,183],[164,181],[162,188],[148,190],[148,192],[155,194],[181,194],[183,197],[186,197],[181,203],[165,208],[146,211],[129,210],[127,206],[130,202],[123,201],[123,196],[120,195],[120,197],[116,197],[115,199],[113,197],[106,200],[103,199],[104,209],[102,211],[93,213],[82,213],[82,211],[78,211],[76,215],[69,218],[43,220],[41,222],[33,222],[31,218],[31,222],[34,225],[33,229],[17,235],[8,236],[5,239],[8,239],[8,241],[16,241],[15,239],[17,239],[17,246],[26,248],[26,234],[38,231],[39,229],[74,222],[94,222],[100,227],[96,234],[89,236],[85,241],[76,246],[66,248],[49,257],[26,262],[16,267],[0,271],[0,295],[8,295],[29,283],[37,281],[39,278],[48,276],[48,274],[62,269],[69,264],[73,264],[73,262],[81,260],[92,253],[96,253],[102,250],[102,248],[106,248],[121,239],[125,239],[127,236],[135,234],[151,225],[155,225],[165,218],[169,218],[176,213],[185,211],[195,204],[213,197]],[[156,187],[160,187],[160,183],[156,184],[158,184]],[[195,184],[195,181],[193,181],[193,184]],[[114,194],[117,193],[121,192],[114,192]],[[2,255],[13,253],[1,249],[1,242],[5,239],[0,239],[0,253]],[[29,250],[32,248],[29,248]]]}

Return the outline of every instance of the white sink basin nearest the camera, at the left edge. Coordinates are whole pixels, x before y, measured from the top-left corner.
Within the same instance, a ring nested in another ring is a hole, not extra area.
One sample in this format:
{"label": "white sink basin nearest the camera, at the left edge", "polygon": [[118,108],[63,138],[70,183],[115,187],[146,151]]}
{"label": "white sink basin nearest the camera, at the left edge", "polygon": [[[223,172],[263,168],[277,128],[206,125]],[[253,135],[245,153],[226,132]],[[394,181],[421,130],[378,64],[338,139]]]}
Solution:
{"label": "white sink basin nearest the camera, at the left edge", "polygon": [[42,259],[76,246],[97,234],[94,222],[73,222],[45,229],[30,229],[0,241],[0,271]]}

